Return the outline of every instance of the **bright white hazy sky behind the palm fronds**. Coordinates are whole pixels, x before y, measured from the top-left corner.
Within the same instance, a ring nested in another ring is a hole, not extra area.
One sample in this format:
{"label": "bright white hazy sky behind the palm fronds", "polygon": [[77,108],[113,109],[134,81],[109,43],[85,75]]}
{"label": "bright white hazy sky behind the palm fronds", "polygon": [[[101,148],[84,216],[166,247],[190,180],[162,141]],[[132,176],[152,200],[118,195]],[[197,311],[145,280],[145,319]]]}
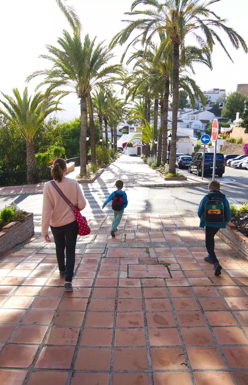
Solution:
{"label": "bright white hazy sky behind the palm fronds", "polygon": [[[97,36],[97,41],[106,40],[107,44],[124,27],[121,19],[126,17],[123,13],[130,10],[131,3],[132,0],[68,0],[81,19],[82,35],[89,33],[91,38]],[[55,0],[2,0],[0,7],[0,91],[11,94],[12,88],[17,87],[22,92],[29,74],[50,66],[48,60],[38,59],[40,54],[47,53],[45,44],[56,45],[62,29],[70,30],[70,27]],[[228,25],[235,28],[248,44],[247,0],[221,0],[211,8],[217,15],[228,19]],[[225,35],[221,36],[234,63],[216,44],[212,56],[213,71],[204,65],[194,67],[196,82],[203,91],[211,88],[236,90],[237,84],[248,83],[248,54],[241,49],[236,51]],[[194,41],[191,43],[194,44]],[[123,49],[119,46],[114,49],[117,63]],[[36,78],[28,84],[30,94],[34,93],[38,83],[39,78]],[[66,111],[59,112],[61,121],[79,116],[75,95],[65,97],[62,102]]]}

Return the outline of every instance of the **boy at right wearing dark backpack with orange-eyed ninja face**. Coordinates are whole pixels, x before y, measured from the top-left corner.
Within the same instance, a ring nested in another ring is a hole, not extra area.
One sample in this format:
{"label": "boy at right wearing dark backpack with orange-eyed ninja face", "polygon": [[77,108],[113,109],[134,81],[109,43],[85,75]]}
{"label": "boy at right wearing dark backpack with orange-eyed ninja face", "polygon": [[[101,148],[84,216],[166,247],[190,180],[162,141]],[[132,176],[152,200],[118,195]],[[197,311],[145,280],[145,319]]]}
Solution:
{"label": "boy at right wearing dark backpack with orange-eyed ninja face", "polygon": [[[200,218],[200,227],[206,226],[206,234],[205,234],[205,241],[206,241],[206,249],[208,251],[208,256],[204,258],[206,262],[210,262],[214,264],[214,275],[220,275],[221,274],[221,265],[216,258],[216,255],[214,253],[214,235],[218,232],[219,229],[225,229],[228,222],[230,222],[231,219],[231,210],[228,203],[228,200],[226,199],[225,194],[222,194],[220,192],[220,182],[216,181],[214,179],[211,181],[208,185],[208,189],[210,192],[204,196],[204,198],[201,200],[201,203],[198,207],[198,217]],[[205,214],[205,204],[209,201],[212,197],[218,199],[221,201],[224,205],[224,222],[223,223],[206,223],[204,214]]]}

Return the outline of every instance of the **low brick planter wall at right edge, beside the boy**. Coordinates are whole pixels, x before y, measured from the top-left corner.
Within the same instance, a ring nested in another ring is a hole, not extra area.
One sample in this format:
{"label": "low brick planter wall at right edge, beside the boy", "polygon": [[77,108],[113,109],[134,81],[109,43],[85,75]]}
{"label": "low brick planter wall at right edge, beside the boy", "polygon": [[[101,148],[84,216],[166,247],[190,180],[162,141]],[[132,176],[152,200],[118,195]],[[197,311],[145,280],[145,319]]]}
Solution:
{"label": "low brick planter wall at right edge, beside the boy", "polygon": [[248,260],[248,238],[236,230],[236,225],[229,222],[226,229],[220,229],[217,235],[233,248],[237,256]]}

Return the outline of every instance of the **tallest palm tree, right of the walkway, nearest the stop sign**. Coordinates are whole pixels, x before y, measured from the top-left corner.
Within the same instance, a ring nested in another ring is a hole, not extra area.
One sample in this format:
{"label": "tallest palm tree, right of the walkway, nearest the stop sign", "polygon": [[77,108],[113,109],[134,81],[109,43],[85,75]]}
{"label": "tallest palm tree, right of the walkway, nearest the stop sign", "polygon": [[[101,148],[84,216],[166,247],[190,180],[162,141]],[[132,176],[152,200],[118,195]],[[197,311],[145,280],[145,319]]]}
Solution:
{"label": "tallest palm tree, right of the walkway, nearest the stop sign", "polygon": [[[208,8],[209,5],[216,1],[218,0],[201,3],[200,0],[168,0],[165,3],[160,3],[158,0],[135,0],[131,6],[131,12],[126,12],[126,15],[144,15],[144,18],[134,21],[125,20],[128,22],[127,27],[117,33],[111,42],[111,46],[117,43],[122,45],[129,39],[132,31],[137,29],[139,31],[138,36],[131,41],[128,47],[131,44],[135,44],[139,37],[142,37],[141,43],[147,45],[155,33],[161,32],[164,32],[164,39],[161,41],[157,56],[159,57],[168,51],[169,46],[173,45],[173,122],[170,158],[170,172],[172,173],[176,171],[179,55],[180,50],[182,52],[184,50],[186,35],[191,33],[200,47],[204,50],[209,50],[210,54],[217,41],[231,59],[222,40],[216,33],[216,29],[220,29],[227,34],[235,49],[241,46],[245,52],[248,52],[245,40],[233,28],[226,25],[227,20],[221,19]],[[149,5],[153,8],[134,11],[134,8],[139,4]],[[203,37],[198,34],[198,30],[202,33]]]}

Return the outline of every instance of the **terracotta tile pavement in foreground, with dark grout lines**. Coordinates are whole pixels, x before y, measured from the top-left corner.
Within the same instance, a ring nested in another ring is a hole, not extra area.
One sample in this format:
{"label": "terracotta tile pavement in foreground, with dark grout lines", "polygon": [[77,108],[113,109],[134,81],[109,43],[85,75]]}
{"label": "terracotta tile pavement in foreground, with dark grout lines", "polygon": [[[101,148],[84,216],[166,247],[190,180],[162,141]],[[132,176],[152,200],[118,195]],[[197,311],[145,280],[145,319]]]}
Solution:
{"label": "terracotta tile pavement in foreground, with dark grout lines", "polygon": [[[150,216],[149,226],[178,217]],[[195,226],[193,215],[184,219]],[[144,232],[166,240],[162,228]],[[200,236],[191,227],[169,232]],[[3,255],[1,385],[248,384],[246,261],[216,248],[223,270],[215,277],[200,246],[92,246],[77,249],[73,293],[64,293],[53,249]]]}

